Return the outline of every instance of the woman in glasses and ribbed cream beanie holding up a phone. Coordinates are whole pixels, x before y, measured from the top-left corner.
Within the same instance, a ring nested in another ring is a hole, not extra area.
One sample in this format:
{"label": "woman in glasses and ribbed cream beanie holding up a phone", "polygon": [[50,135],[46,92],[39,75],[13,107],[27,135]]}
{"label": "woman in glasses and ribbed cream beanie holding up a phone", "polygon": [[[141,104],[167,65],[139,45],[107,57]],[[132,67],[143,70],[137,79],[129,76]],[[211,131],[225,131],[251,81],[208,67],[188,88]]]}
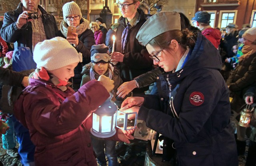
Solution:
{"label": "woman in glasses and ribbed cream beanie holding up a phone", "polygon": [[[80,88],[80,83],[82,81],[82,66],[90,62],[91,48],[95,44],[94,34],[92,30],[89,29],[89,21],[82,18],[81,10],[76,4],[76,2],[68,2],[62,7],[63,10],[63,20],[60,24],[60,31],[58,36],[66,38],[76,51],[82,53],[83,62],[79,62],[75,69],[75,75],[70,79],[72,88],[77,91]],[[76,32],[73,32],[74,36],[67,37],[68,26],[76,27]]]}

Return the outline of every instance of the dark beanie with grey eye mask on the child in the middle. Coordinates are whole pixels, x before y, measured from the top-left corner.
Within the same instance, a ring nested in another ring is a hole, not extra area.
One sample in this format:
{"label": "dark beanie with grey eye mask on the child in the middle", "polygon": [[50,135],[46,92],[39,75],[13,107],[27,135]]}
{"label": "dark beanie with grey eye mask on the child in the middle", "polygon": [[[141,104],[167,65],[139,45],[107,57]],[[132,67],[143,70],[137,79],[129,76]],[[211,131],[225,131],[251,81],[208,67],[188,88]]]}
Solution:
{"label": "dark beanie with grey eye mask on the child in the middle", "polygon": [[108,47],[105,44],[93,45],[91,49],[92,63],[110,63]]}

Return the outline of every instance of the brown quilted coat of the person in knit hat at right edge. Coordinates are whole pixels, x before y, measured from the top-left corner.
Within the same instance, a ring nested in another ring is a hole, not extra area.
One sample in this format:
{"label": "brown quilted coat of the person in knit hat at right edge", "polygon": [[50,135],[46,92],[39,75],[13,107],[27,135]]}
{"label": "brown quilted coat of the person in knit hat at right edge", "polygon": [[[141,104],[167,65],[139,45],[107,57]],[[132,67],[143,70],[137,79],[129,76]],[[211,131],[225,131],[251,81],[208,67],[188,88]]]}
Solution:
{"label": "brown quilted coat of the person in knit hat at right edge", "polygon": [[229,85],[231,109],[240,112],[240,108],[245,104],[244,94],[250,86],[256,85],[256,53],[250,55],[247,59],[239,62],[236,70],[230,74],[227,85]]}

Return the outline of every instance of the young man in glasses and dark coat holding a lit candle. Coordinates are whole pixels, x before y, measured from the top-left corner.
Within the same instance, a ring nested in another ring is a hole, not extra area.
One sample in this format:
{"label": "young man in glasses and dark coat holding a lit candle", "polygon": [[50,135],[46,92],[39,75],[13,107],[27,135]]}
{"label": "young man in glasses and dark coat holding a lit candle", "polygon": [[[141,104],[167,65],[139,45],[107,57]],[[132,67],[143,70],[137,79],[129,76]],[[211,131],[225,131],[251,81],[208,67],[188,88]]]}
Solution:
{"label": "young man in glasses and dark coat holding a lit candle", "polygon": [[[136,39],[140,27],[146,22],[143,10],[138,9],[138,0],[118,0],[117,6],[122,16],[116,30],[116,48],[111,54],[111,62],[117,62],[123,82],[133,80],[152,70],[153,60],[148,51]],[[135,88],[133,96],[143,95],[149,86]]]}

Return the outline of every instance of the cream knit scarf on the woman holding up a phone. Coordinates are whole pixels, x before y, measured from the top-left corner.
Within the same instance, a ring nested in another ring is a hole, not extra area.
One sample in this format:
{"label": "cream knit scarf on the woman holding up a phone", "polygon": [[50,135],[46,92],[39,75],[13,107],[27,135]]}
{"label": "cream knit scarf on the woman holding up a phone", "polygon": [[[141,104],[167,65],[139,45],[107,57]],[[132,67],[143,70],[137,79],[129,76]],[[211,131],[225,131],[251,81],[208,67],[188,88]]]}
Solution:
{"label": "cream knit scarf on the woman holding up a phone", "polygon": [[[76,27],[76,33],[78,34],[78,36],[80,36],[85,30],[89,29],[89,21],[85,18],[82,19],[84,22]],[[63,34],[63,36],[67,37],[68,24],[64,20],[62,20],[62,22],[60,23],[60,32]]]}

